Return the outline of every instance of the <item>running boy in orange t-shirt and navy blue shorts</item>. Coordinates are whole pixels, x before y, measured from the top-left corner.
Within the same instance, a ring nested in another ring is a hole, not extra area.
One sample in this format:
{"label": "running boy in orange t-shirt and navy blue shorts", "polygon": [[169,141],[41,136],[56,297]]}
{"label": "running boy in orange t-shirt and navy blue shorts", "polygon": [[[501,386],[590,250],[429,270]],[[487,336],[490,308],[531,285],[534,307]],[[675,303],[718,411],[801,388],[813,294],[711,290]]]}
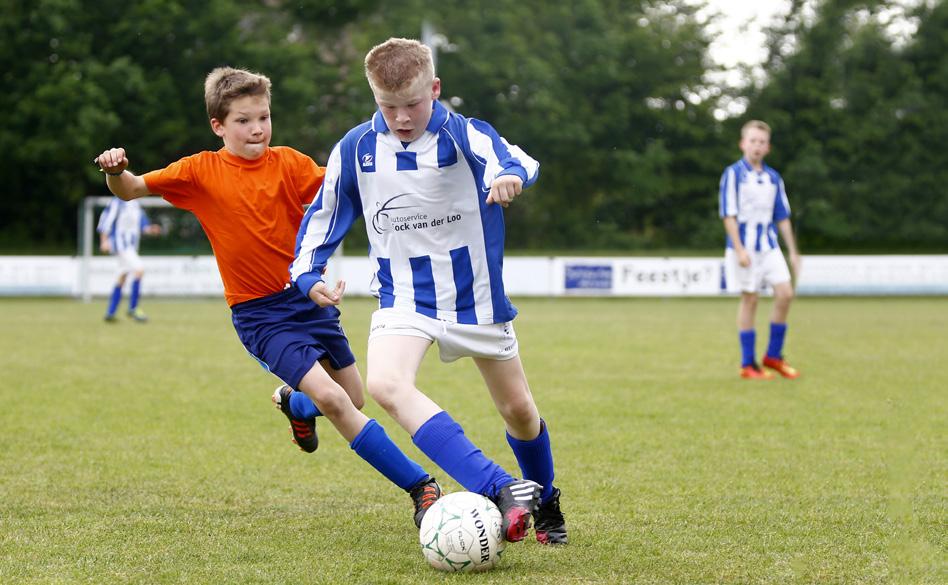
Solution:
{"label": "running boy in orange t-shirt and navy blue shorts", "polygon": [[290,419],[297,444],[316,450],[315,417],[324,415],[360,457],[411,495],[420,525],[441,488],[360,411],[362,378],[339,311],[320,307],[338,301],[345,283],[310,298],[289,284],[303,205],[319,190],[325,170],[292,148],[270,147],[266,77],[220,67],[207,76],[204,97],[222,149],[144,175],[127,170],[123,148],[108,149],[95,162],[109,190],[126,201],[159,194],[194,213],[214,250],[240,341],[285,383],[273,401]]}

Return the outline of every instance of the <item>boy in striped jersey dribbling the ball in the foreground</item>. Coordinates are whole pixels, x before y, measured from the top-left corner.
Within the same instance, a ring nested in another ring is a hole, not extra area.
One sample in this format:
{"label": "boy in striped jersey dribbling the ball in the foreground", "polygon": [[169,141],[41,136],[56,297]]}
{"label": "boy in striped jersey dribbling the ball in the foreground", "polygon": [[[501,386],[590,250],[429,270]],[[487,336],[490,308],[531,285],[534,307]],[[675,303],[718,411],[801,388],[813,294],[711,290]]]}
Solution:
{"label": "boy in striped jersey dribbling the ball in the foreground", "polygon": [[[553,455],[520,362],[502,280],[506,207],[533,184],[539,164],[486,122],[438,103],[430,50],[389,39],[365,59],[379,110],[329,157],[326,179],[297,239],[293,281],[320,305],[339,302],[322,279],[329,257],[361,214],[376,270],[366,386],[413,441],[465,489],[493,499],[504,536],[565,543]],[[415,386],[428,348],[445,362],[471,357],[523,472],[488,459],[451,416]]]}

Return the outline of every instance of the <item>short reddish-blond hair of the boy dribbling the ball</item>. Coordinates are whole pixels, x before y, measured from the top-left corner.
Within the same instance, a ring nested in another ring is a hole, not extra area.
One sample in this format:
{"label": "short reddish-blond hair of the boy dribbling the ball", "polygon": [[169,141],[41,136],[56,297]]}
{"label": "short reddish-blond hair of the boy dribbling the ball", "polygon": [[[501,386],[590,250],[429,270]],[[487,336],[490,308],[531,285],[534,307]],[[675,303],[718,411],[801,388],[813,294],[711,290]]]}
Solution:
{"label": "short reddish-blond hair of the boy dribbling the ball", "polygon": [[373,90],[398,93],[434,76],[431,49],[413,39],[391,38],[365,56],[365,77]]}

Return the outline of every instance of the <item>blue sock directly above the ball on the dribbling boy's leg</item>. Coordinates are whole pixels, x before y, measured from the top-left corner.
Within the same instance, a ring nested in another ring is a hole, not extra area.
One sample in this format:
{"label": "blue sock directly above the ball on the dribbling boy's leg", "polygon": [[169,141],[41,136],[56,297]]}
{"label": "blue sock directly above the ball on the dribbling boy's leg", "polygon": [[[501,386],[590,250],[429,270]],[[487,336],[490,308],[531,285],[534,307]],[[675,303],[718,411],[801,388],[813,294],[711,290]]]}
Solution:
{"label": "blue sock directly above the ball on the dribbling boy's leg", "polygon": [[497,490],[514,481],[503,467],[474,446],[447,412],[441,411],[425,421],[412,441],[469,492],[493,498]]}

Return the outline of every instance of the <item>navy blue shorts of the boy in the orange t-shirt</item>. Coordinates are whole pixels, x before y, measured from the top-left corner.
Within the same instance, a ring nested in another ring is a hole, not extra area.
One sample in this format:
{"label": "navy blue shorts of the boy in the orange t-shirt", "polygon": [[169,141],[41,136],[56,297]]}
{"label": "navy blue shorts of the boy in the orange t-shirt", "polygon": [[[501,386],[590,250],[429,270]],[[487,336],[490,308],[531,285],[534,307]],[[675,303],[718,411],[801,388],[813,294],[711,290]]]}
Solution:
{"label": "navy blue shorts of the boy in the orange t-shirt", "polygon": [[355,363],[339,323],[339,309],[320,307],[295,286],[237,303],[234,329],[244,347],[268,371],[292,388],[316,362],[328,359],[334,370]]}

